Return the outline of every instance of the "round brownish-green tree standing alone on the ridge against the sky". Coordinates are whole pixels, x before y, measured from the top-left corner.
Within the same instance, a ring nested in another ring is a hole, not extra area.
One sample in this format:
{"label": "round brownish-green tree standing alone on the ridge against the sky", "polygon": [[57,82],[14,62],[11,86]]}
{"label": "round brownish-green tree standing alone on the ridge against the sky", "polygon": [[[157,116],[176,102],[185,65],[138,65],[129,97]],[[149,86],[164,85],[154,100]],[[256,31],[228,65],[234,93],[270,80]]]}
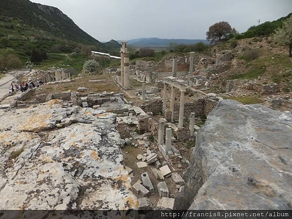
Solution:
{"label": "round brownish-green tree standing alone on the ridge against the sky", "polygon": [[232,33],[232,27],[226,21],[220,21],[209,27],[209,31],[206,33],[207,39],[212,42],[220,41],[226,38]]}

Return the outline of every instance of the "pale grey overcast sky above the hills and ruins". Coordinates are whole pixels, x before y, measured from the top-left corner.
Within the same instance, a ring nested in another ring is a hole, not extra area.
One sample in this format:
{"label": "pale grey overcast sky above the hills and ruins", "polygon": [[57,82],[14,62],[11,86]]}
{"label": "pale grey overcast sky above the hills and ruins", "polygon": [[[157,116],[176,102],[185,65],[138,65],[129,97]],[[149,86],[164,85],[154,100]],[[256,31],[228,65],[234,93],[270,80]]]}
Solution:
{"label": "pale grey overcast sky above the hills and ruins", "polygon": [[227,21],[240,33],[256,20],[292,12],[292,0],[32,0],[51,5],[100,41],[141,37],[205,39],[209,26]]}

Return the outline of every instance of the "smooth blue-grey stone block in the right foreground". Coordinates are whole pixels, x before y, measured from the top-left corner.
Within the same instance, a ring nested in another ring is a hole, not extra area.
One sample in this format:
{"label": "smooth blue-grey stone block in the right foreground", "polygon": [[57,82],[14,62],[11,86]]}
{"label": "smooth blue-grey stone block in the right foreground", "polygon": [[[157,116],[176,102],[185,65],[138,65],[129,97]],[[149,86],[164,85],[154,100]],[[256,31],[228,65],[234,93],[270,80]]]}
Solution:
{"label": "smooth blue-grey stone block in the right foreground", "polygon": [[292,114],[220,101],[200,128],[175,209],[292,209]]}

